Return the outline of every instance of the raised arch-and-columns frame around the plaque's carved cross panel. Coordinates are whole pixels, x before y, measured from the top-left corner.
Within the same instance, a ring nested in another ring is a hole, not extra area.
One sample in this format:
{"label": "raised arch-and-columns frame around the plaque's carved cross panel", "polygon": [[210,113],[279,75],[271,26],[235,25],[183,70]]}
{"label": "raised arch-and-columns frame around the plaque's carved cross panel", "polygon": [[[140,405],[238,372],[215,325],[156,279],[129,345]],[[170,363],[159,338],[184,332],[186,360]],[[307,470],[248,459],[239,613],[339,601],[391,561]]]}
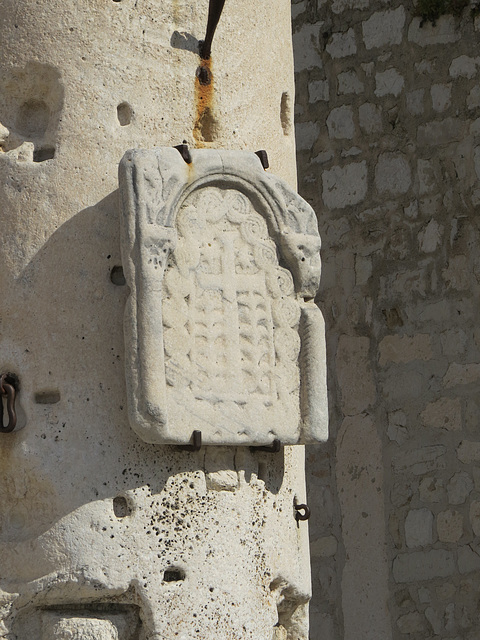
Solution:
{"label": "raised arch-and-columns frame around the plaque's carved cross panel", "polygon": [[[129,418],[146,442],[186,444],[191,436],[168,428],[163,322],[158,317],[161,283],[177,242],[177,212],[192,192],[221,184],[256,203],[281,262],[293,276],[300,321],[301,424],[283,444],[325,441],[328,433],[323,317],[313,298],[320,281],[320,237],[312,208],[279,178],[266,173],[254,153],[198,149],[185,163],[176,149],[128,151],[119,167],[122,259],[131,294],[125,311]],[[148,250],[148,263],[140,260]],[[159,289],[160,284],[160,289]],[[142,304],[138,304],[141,298]],[[161,308],[161,306],[160,306]],[[269,444],[275,425],[261,441],[203,444]]]}

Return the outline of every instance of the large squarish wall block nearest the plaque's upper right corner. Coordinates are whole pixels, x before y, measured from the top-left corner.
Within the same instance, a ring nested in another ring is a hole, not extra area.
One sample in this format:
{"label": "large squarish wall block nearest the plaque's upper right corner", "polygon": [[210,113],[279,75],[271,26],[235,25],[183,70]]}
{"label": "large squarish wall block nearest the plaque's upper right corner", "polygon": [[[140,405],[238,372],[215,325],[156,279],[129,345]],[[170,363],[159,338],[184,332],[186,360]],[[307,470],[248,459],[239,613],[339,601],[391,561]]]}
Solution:
{"label": "large squarish wall block nearest the plaque's upper right corner", "polygon": [[334,166],[322,173],[322,198],[330,209],[344,209],[358,204],[367,195],[367,163],[351,162]]}

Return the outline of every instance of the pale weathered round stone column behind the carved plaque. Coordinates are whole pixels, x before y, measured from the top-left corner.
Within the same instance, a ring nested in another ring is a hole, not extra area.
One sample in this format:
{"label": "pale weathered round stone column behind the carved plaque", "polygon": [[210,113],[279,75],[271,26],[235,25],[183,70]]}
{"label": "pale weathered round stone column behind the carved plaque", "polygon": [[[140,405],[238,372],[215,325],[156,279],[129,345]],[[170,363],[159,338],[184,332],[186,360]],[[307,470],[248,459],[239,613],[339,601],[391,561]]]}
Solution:
{"label": "pale weathered round stone column behind the carved plaque", "polygon": [[0,635],[307,637],[302,447],[142,442],[127,420],[118,162],[266,149],[295,186],[288,0],[0,0]]}

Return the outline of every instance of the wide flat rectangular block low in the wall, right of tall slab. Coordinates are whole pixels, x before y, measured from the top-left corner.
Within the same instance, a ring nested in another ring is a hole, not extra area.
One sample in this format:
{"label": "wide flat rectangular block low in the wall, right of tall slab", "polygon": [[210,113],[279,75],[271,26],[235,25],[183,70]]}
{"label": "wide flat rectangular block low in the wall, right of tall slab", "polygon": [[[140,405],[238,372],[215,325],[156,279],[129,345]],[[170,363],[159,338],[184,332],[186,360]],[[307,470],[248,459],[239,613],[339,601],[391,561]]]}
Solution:
{"label": "wide flat rectangular block low in the wall, right of tall slab", "polygon": [[393,560],[396,582],[447,578],[455,572],[455,556],[446,549],[401,553]]}

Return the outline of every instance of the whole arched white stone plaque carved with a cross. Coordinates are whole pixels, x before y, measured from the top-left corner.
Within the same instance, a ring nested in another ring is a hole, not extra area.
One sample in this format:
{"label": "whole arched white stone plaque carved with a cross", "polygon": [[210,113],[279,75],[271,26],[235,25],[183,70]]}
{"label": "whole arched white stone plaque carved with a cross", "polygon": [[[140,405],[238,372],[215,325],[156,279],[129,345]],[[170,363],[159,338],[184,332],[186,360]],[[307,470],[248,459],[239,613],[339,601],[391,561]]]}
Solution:
{"label": "whole arched white stone plaque carved with a cross", "polygon": [[120,164],[127,392],[147,442],[323,441],[320,238],[255,154],[130,151]]}

